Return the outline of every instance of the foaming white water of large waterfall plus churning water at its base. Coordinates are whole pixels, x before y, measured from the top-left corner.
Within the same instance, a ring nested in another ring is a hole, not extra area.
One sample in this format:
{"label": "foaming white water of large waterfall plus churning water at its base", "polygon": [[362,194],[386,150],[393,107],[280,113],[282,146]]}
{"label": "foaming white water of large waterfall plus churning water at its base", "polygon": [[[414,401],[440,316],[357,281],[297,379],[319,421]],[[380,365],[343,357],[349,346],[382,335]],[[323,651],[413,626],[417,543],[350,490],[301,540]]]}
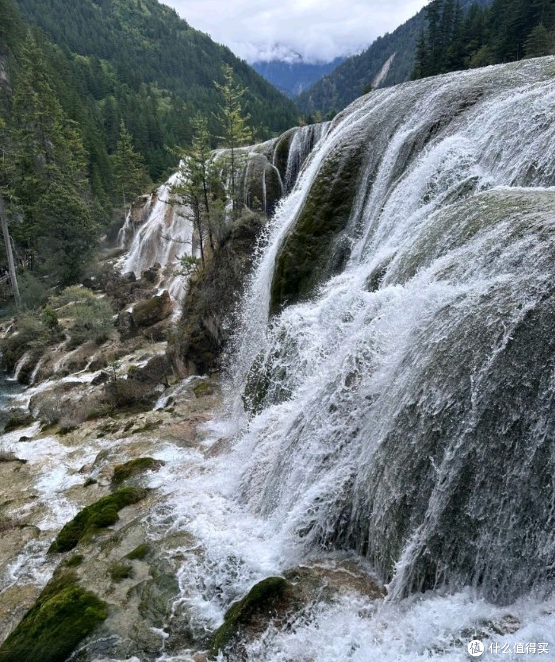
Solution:
{"label": "foaming white water of large waterfall plus churning water at its base", "polygon": [[[265,406],[247,423],[235,401],[232,453],[165,483],[168,520],[202,549],[177,610],[214,627],[261,577],[341,549],[389,596],[311,608],[255,641],[252,661],[462,660],[480,628],[486,645],[553,655],[554,68],[365,97],[275,214],[229,396],[258,357]],[[269,320],[275,262],[321,164],[364,136],[347,267]]]}

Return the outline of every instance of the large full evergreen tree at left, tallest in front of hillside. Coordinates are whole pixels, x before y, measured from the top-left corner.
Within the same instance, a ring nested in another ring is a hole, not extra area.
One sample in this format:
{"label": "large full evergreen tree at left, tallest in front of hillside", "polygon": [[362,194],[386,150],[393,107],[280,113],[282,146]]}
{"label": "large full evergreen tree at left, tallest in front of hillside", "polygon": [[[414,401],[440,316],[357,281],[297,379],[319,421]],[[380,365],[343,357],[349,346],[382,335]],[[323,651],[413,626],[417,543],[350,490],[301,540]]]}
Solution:
{"label": "large full evergreen tree at left, tallest in front of hillside", "polygon": [[21,48],[13,95],[13,188],[24,222],[17,238],[56,281],[78,279],[97,225],[91,217],[85,150],[75,122],[54,93],[44,54],[32,35]]}

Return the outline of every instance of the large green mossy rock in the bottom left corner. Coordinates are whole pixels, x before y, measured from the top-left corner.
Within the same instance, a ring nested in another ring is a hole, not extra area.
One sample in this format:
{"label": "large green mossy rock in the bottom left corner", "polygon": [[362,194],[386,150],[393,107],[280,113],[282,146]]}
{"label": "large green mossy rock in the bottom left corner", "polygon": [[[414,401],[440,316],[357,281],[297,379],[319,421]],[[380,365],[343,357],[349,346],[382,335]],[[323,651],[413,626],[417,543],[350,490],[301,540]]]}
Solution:
{"label": "large green mossy rock in the bottom left corner", "polygon": [[77,584],[55,577],[0,647],[0,662],[62,662],[108,617],[108,606]]}

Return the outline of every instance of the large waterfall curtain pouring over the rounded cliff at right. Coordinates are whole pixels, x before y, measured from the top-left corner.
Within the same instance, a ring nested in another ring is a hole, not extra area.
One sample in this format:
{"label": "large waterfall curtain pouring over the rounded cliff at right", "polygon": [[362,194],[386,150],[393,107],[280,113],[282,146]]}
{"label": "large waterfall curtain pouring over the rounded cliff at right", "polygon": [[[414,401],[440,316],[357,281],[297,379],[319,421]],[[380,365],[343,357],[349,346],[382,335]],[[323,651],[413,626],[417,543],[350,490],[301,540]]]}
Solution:
{"label": "large waterfall curtain pouring over the rounded cliff at right", "polygon": [[[245,296],[241,500],[307,553],[366,557],[390,600],[553,586],[554,71],[542,58],[356,101],[278,207]],[[323,173],[355,152],[341,267],[322,258],[310,293],[275,306]]]}

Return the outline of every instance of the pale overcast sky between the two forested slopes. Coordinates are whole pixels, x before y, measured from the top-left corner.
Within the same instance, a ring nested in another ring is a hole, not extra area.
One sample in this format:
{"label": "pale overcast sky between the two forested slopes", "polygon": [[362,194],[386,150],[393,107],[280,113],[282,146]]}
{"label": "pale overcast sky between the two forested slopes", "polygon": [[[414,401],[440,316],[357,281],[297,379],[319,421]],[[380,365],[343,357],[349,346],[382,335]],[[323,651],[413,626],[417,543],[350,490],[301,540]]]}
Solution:
{"label": "pale overcast sky between the two forested slopes", "polygon": [[359,52],[404,23],[427,0],[162,0],[247,62],[329,62]]}

